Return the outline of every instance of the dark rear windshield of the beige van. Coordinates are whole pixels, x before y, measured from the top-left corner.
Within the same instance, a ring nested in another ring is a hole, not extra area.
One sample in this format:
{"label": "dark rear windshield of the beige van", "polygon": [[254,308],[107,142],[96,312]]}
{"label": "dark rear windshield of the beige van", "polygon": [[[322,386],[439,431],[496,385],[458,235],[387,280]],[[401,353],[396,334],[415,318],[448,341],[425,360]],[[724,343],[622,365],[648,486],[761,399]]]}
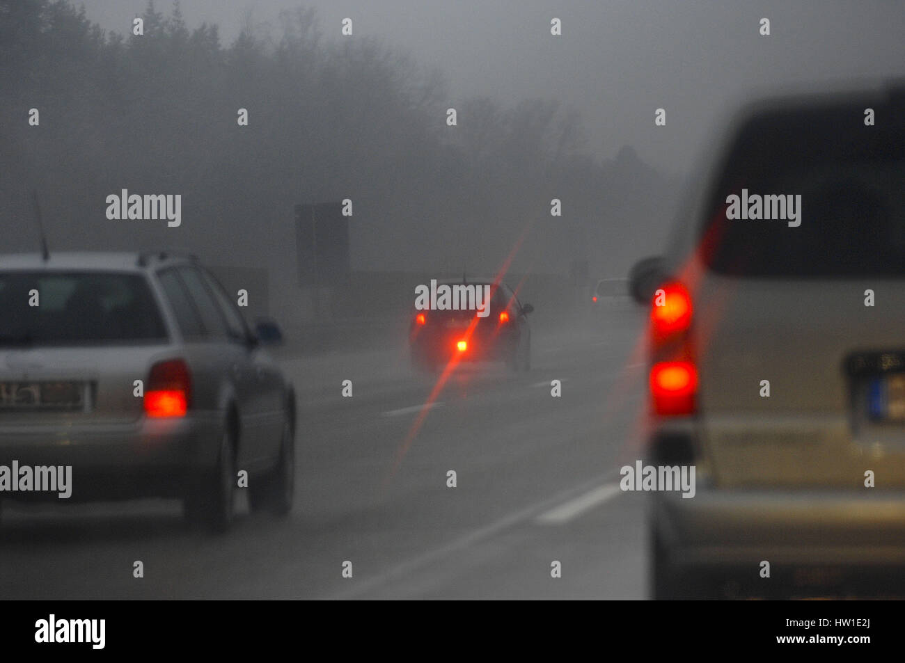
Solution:
{"label": "dark rear windshield of the beige van", "polygon": [[710,270],[905,277],[905,134],[891,110],[876,112],[885,122],[873,127],[864,126],[863,107],[749,123],[702,227]]}

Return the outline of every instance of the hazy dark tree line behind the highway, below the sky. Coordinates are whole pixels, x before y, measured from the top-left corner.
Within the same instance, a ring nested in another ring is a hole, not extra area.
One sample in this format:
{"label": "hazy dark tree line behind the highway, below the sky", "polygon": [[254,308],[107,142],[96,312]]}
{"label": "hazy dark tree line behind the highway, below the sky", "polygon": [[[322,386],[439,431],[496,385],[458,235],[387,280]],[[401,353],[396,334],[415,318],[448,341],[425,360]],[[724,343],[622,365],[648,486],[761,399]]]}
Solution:
{"label": "hazy dark tree line behind the highway, below the sky", "polygon": [[[68,249],[291,262],[294,205],[344,198],[363,270],[487,272],[514,252],[522,272],[615,273],[659,249],[676,182],[631,147],[592,156],[556,99],[453,99],[442,72],[375,38],[325,39],[303,7],[278,33],[249,18],[229,44],[178,3],[142,19],[143,35],[108,32],[68,0],[0,0],[4,251],[36,247],[33,188]],[[184,223],[108,221],[120,189],[181,194]]]}

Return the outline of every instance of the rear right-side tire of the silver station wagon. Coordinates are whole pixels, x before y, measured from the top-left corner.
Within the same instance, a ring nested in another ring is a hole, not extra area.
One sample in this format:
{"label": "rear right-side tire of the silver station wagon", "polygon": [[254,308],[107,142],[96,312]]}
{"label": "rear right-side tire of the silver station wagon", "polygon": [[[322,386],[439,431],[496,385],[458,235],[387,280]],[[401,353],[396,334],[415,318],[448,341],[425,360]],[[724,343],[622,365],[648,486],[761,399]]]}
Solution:
{"label": "rear right-side tire of the silver station wagon", "polygon": [[186,519],[219,534],[229,531],[235,517],[234,437],[233,427],[227,424],[220,439],[214,471],[196,481],[183,500]]}

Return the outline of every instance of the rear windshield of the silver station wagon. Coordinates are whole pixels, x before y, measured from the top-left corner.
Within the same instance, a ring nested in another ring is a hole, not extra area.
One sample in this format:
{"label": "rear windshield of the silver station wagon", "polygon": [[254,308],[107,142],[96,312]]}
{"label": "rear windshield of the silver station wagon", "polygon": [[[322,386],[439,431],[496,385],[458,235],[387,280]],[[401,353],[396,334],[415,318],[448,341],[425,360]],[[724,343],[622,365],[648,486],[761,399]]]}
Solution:
{"label": "rear windshield of the silver station wagon", "polygon": [[0,346],[156,343],[166,328],[138,274],[0,273]]}

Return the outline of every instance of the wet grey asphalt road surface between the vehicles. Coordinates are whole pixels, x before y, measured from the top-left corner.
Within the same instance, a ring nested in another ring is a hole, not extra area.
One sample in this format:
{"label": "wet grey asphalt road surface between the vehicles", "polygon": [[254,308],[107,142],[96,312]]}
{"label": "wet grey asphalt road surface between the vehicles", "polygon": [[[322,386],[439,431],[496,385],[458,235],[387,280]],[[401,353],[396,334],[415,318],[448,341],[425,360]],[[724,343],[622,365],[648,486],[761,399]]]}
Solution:
{"label": "wet grey asphalt road surface between the vehicles", "polygon": [[214,536],[176,501],[7,502],[0,597],[645,598],[645,502],[617,486],[643,439],[643,310],[601,308],[536,327],[528,374],[429,378],[401,344],[286,352],[300,396],[288,519],[251,516],[240,496],[233,530]]}

